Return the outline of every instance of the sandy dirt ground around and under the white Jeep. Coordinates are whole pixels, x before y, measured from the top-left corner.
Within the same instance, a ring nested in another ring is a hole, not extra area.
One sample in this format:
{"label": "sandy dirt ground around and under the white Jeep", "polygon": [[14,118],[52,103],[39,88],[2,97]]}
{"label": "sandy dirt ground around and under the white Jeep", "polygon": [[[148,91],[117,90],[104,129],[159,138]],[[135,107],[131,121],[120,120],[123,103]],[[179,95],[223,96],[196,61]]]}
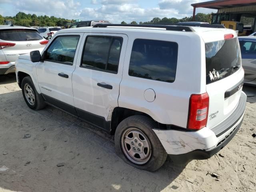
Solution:
{"label": "sandy dirt ground around and under the white Jeep", "polygon": [[0,192],[255,191],[256,88],[243,90],[244,122],[218,154],[146,172],[118,158],[98,128],[50,106],[31,110],[15,76],[0,76]]}

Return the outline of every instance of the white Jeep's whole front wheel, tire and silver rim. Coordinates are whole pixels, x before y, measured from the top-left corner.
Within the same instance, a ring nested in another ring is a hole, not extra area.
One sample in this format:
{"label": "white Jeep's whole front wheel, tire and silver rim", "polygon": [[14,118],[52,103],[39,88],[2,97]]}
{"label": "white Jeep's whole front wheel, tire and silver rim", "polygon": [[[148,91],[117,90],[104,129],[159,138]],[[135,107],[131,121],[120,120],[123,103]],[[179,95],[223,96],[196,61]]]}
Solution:
{"label": "white Jeep's whole front wheel, tire and silver rim", "polygon": [[40,110],[45,107],[44,99],[36,91],[30,76],[27,76],[22,80],[21,88],[24,100],[30,108]]}

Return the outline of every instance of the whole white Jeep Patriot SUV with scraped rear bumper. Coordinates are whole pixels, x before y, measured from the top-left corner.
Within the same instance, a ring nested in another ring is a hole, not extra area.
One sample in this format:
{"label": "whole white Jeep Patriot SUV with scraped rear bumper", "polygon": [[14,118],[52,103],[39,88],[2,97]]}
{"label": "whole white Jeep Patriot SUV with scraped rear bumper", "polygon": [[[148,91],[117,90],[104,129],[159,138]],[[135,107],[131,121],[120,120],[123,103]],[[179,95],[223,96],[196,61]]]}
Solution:
{"label": "whole white Jeep Patriot SUV with scraped rear bumper", "polygon": [[99,24],[57,32],[16,61],[34,110],[54,105],[114,134],[143,170],[216,154],[240,128],[244,70],[234,30]]}

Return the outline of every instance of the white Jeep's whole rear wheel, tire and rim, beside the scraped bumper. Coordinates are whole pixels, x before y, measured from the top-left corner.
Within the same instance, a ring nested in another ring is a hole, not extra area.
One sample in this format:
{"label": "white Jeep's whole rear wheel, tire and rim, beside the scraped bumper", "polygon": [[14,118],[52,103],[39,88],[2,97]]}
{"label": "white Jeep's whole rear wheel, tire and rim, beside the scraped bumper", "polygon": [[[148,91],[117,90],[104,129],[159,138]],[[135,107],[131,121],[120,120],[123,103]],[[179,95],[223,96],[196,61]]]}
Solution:
{"label": "white Jeep's whole rear wheel, tire and rim, beside the scraped bumper", "polygon": [[167,157],[160,140],[152,130],[154,120],[141,115],[124,119],[116,128],[116,153],[126,163],[142,170],[156,171]]}

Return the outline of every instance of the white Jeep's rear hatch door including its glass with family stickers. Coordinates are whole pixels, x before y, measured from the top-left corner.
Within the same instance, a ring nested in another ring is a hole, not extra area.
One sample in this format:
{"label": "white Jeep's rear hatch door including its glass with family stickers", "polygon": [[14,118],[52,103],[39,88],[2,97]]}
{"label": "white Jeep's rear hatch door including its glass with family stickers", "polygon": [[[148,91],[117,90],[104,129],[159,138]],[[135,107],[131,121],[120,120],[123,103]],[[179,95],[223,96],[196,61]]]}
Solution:
{"label": "white Jeep's rear hatch door including its glass with family stickers", "polygon": [[205,43],[206,91],[209,95],[207,127],[224,121],[238,105],[244,71],[237,37]]}

